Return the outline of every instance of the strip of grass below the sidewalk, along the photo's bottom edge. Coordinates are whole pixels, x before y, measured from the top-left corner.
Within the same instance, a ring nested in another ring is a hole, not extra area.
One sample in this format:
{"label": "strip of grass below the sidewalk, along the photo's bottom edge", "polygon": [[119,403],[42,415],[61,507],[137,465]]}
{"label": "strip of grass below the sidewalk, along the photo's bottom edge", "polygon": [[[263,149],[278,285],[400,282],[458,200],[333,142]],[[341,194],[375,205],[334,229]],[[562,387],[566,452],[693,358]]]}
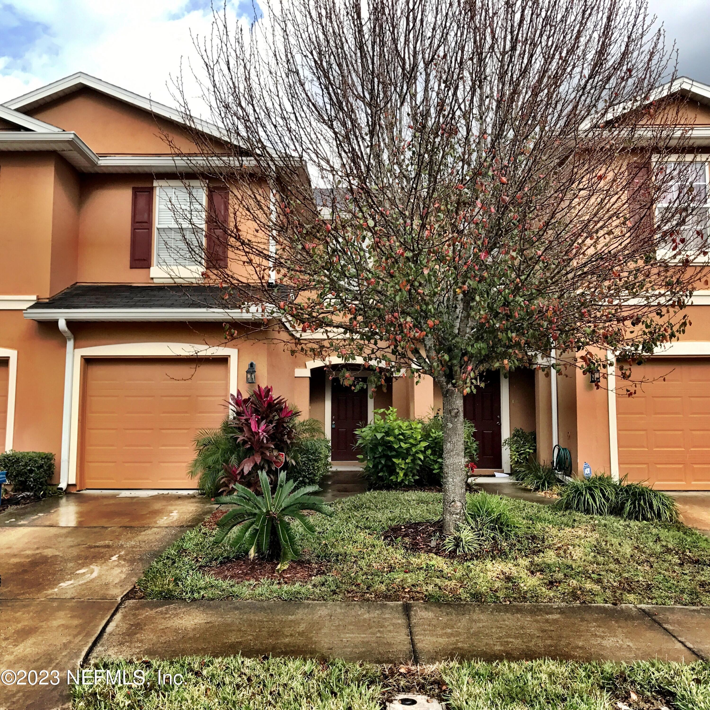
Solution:
{"label": "strip of grass below the sidewalk, along the photo's bottom edge", "polygon": [[[449,710],[618,710],[625,704],[639,710],[710,709],[710,665],[701,662],[602,665],[540,660],[396,668],[233,656],[105,662],[95,667],[112,674],[126,669],[129,676],[140,669],[146,684],[75,687],[74,710],[382,710],[383,700],[398,692],[431,695],[445,701]],[[185,680],[180,686],[159,688],[158,670],[180,673]]]}

